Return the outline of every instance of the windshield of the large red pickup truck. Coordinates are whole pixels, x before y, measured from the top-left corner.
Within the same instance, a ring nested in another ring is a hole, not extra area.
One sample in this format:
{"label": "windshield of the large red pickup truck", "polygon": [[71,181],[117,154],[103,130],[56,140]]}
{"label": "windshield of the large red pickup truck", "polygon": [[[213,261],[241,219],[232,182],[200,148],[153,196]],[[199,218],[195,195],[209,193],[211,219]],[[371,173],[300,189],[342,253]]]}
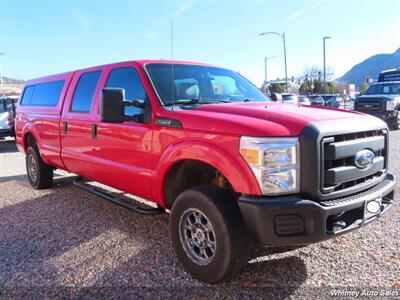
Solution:
{"label": "windshield of the large red pickup truck", "polygon": [[230,70],[164,63],[145,68],[164,105],[193,99],[199,99],[198,103],[268,100],[247,79]]}

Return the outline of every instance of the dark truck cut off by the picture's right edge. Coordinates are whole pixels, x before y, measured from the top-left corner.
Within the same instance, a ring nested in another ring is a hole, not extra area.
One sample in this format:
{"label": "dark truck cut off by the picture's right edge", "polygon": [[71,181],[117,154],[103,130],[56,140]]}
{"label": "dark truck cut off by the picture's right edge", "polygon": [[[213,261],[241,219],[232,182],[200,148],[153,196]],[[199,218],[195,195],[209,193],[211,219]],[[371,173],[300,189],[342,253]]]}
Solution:
{"label": "dark truck cut off by the picture's right edge", "polygon": [[390,128],[400,127],[400,68],[382,71],[377,83],[355,99],[354,110],[386,121]]}

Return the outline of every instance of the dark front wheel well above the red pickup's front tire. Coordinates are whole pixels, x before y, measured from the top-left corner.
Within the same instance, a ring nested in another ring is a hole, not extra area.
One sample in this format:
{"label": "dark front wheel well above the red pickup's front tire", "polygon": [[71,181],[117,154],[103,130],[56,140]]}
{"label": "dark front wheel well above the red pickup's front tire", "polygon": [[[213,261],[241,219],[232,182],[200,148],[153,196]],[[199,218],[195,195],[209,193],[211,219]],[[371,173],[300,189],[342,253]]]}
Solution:
{"label": "dark front wheel well above the red pickup's front tire", "polygon": [[234,194],[226,177],[213,166],[197,161],[184,160],[176,163],[168,171],[163,194],[166,208],[171,208],[176,197],[183,191],[200,185],[213,185]]}

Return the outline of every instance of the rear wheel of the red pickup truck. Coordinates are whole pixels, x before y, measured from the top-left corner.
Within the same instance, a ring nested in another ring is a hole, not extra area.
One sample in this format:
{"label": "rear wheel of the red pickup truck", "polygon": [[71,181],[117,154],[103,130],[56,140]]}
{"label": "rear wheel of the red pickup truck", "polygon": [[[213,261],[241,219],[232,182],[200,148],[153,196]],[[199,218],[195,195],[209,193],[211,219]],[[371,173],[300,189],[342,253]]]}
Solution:
{"label": "rear wheel of the red pickup truck", "polygon": [[35,147],[29,147],[25,157],[26,173],[34,189],[50,188],[53,184],[53,168],[45,164]]}

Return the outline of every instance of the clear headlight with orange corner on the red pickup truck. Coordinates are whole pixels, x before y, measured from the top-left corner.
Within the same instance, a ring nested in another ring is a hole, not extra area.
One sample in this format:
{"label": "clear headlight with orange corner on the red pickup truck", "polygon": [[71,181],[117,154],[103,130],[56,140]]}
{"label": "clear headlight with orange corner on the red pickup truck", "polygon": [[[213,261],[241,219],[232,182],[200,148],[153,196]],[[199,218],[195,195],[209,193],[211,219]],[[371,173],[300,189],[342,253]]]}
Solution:
{"label": "clear headlight with orange corner on the red pickup truck", "polygon": [[297,138],[242,136],[240,154],[249,164],[264,195],[299,192],[299,141]]}

